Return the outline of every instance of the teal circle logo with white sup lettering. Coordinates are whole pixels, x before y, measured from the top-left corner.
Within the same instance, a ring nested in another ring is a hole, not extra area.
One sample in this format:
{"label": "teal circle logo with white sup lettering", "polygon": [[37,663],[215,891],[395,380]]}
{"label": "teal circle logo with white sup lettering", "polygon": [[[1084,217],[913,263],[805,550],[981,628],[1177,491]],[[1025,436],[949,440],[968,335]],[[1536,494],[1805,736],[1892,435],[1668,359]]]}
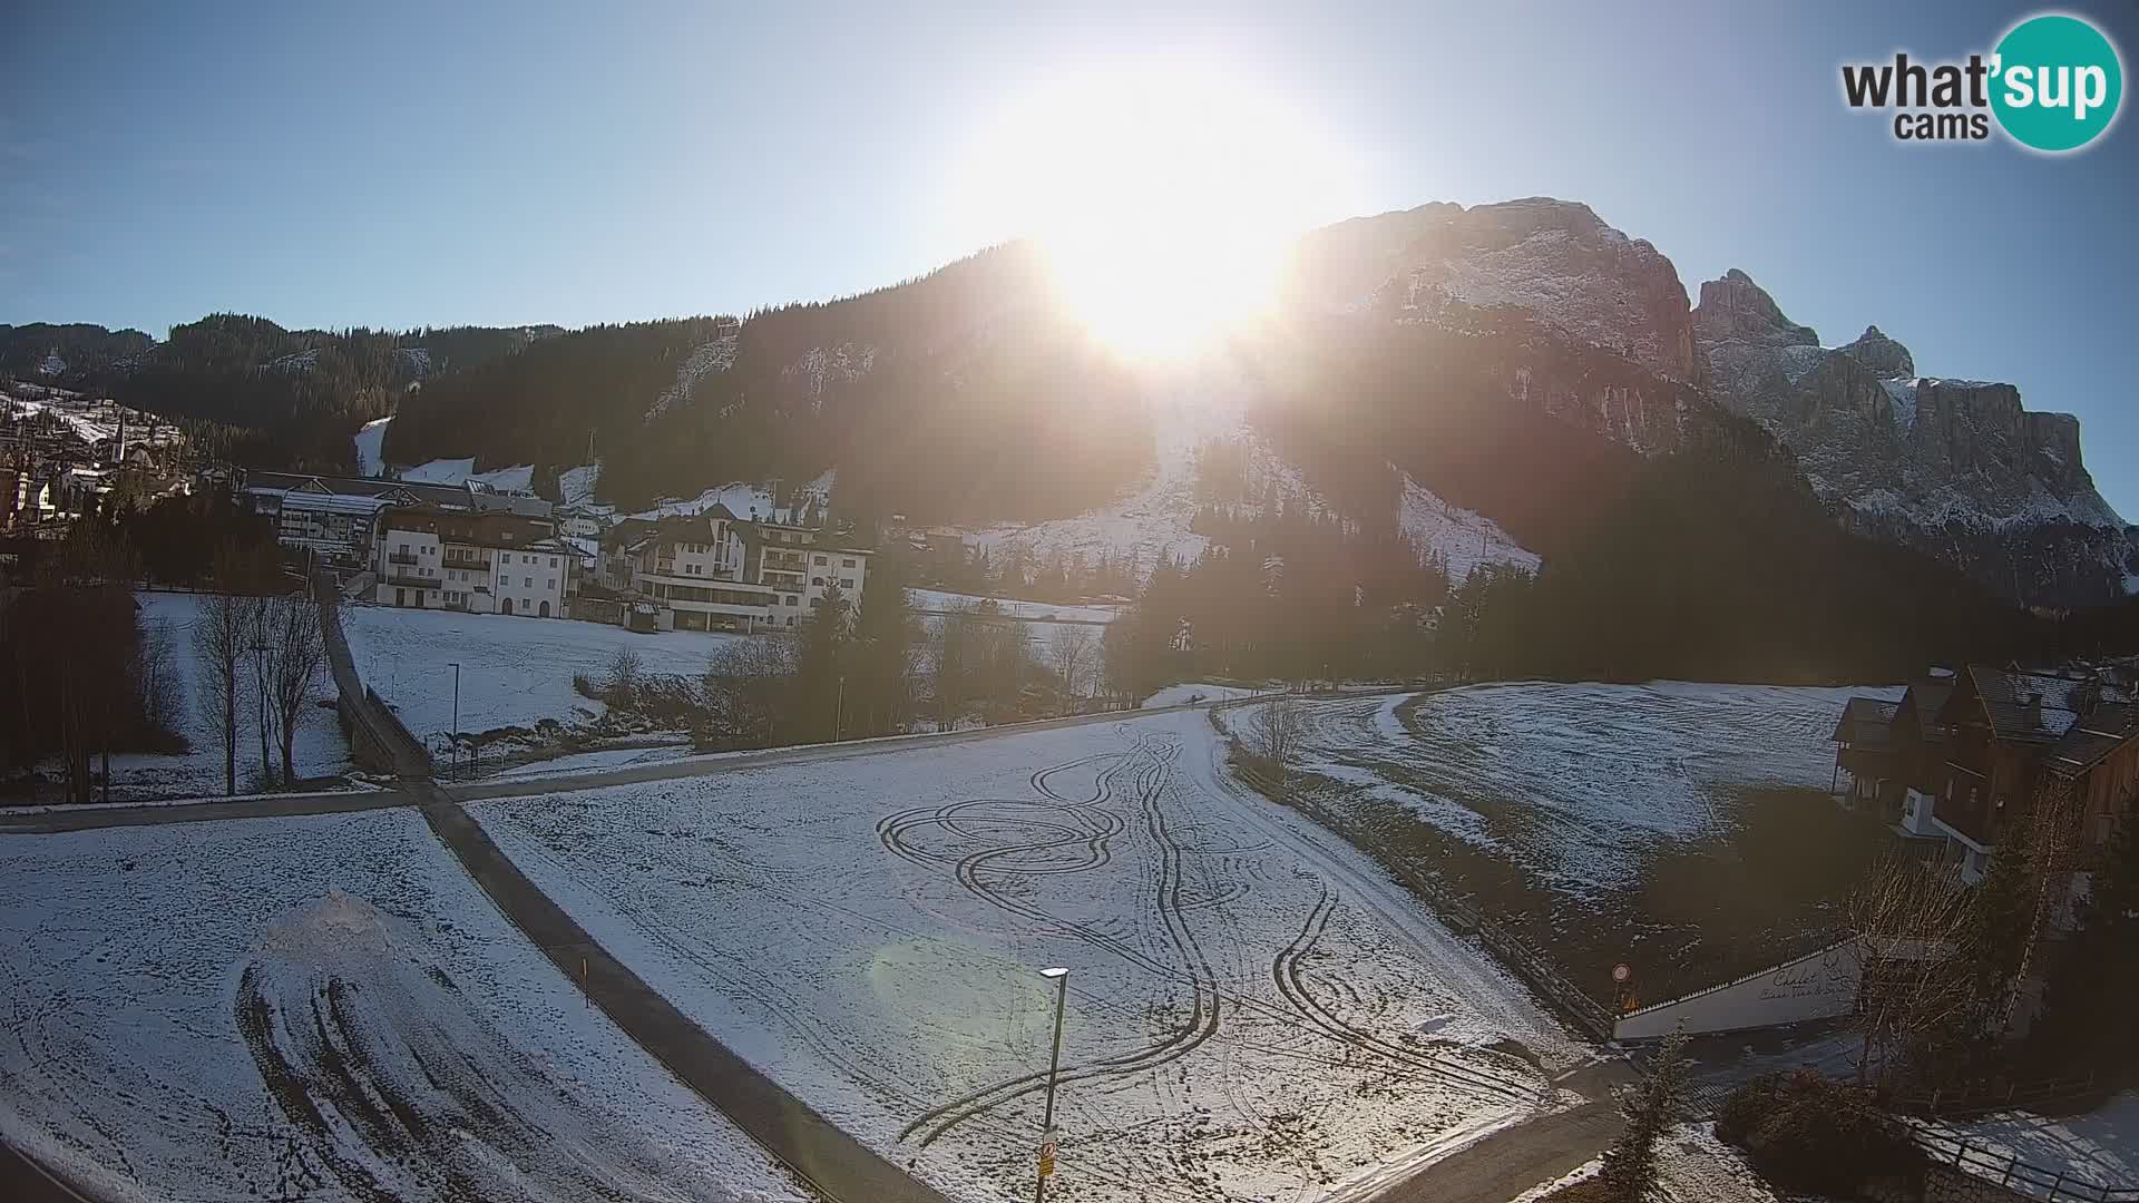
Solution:
{"label": "teal circle logo with white sup lettering", "polygon": [[2049,13],[2028,17],[1991,58],[1991,111],[2021,146],[2051,154],[2088,146],[2118,118],[2124,64],[2100,30]]}

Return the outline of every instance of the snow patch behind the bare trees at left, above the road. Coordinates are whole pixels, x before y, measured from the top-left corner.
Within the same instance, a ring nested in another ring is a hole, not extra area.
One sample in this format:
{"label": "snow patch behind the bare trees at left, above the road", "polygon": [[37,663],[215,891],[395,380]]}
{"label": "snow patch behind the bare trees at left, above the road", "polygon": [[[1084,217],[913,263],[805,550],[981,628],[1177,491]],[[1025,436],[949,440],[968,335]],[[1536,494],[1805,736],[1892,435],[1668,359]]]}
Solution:
{"label": "snow patch behind the bare trees at left, above the road", "polygon": [[[205,666],[193,649],[193,627],[199,621],[197,593],[135,593],[141,606],[141,627],[160,627],[169,638],[171,668],[178,676],[178,732],[186,736],[184,756],[152,756],[128,751],[111,758],[113,801],[201,798],[222,792],[222,736],[207,702]],[[248,661],[250,664],[250,661]],[[250,672],[250,668],[246,668]],[[334,679],[325,672],[312,685],[314,702],[334,702]],[[248,792],[259,777],[259,696],[246,689],[237,709],[237,790]],[[276,771],[282,751],[267,749]],[[295,764],[299,777],[327,777],[349,771],[349,741],[332,709],[306,706],[297,728]]]}

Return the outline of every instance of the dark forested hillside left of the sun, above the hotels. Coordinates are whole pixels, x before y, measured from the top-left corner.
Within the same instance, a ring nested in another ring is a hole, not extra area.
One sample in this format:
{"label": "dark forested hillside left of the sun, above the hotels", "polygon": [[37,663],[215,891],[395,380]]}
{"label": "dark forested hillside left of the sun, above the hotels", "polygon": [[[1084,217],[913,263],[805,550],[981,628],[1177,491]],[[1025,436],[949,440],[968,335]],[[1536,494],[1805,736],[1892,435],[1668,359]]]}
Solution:
{"label": "dark forested hillside left of the sun, above the hotels", "polygon": [[627,507],[838,469],[849,514],[1052,518],[1151,462],[1132,375],[1050,302],[1029,248],[749,321],[601,325],[406,398],[391,462],[603,460]]}

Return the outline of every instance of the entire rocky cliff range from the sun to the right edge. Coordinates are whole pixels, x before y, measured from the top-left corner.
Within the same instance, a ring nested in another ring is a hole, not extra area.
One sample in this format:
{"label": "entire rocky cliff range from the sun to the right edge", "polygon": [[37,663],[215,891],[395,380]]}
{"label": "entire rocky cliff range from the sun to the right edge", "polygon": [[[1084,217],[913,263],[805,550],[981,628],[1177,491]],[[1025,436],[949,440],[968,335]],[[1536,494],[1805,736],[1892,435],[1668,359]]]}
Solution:
{"label": "entire rocky cliff range from the sun to the right edge", "polygon": [[1519,310],[1641,370],[1546,370],[1540,351],[1508,364],[1517,402],[1643,452],[1686,445],[1722,405],[1788,445],[1852,529],[2028,602],[2107,602],[2139,584],[2135,537],[2094,490],[2075,417],[2030,413],[2009,383],[1919,377],[1876,325],[1822,347],[1739,270],[1690,306],[1671,259],[1587,205],[1532,197],[1348,220],[1301,242],[1294,289],[1397,321]]}

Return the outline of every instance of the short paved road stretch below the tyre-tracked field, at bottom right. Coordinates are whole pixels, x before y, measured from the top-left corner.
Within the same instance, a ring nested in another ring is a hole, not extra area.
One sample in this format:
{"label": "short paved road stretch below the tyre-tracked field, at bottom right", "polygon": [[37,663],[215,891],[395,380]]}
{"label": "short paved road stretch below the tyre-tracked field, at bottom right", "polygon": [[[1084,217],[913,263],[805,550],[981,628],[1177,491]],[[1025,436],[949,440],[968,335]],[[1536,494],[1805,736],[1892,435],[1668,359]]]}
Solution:
{"label": "short paved road stretch below the tyre-tracked field, at bottom right", "polygon": [[1589,1102],[1493,1132],[1373,1194],[1373,1203],[1508,1203],[1566,1177],[1619,1139],[1626,1120],[1611,1090],[1634,1079],[1626,1062],[1591,1066],[1561,1083]]}

